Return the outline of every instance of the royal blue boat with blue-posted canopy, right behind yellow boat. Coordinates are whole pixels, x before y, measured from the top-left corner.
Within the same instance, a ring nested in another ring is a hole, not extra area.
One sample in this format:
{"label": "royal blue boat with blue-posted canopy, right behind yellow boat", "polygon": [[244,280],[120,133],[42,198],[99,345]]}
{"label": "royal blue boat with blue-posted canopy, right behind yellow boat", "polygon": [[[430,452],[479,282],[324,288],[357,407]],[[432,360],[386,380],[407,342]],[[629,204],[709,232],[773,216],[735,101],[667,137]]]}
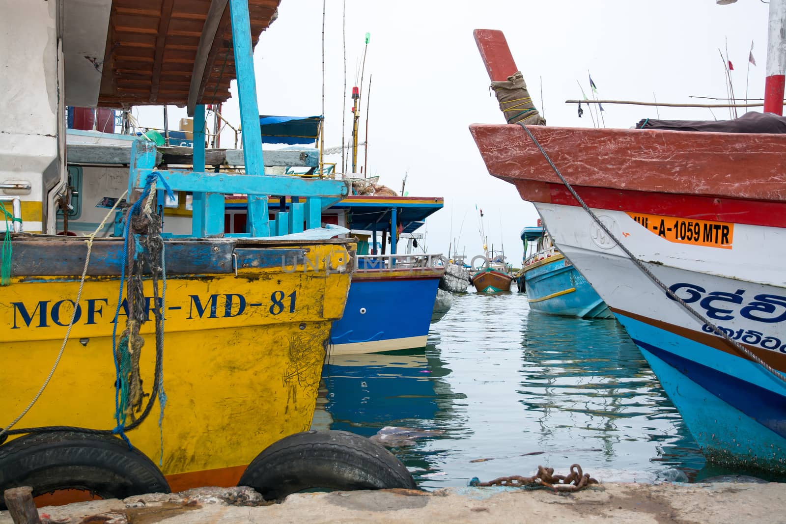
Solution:
{"label": "royal blue boat with blue-posted canopy, right behind yellow boat", "polygon": [[[399,245],[442,207],[441,197],[350,196],[322,215],[326,224],[350,228],[358,238],[357,269],[343,317],[333,323],[332,354],[426,346],[439,280],[445,273],[444,266],[438,266],[442,256],[399,253]],[[410,249],[412,244],[410,240]]]}

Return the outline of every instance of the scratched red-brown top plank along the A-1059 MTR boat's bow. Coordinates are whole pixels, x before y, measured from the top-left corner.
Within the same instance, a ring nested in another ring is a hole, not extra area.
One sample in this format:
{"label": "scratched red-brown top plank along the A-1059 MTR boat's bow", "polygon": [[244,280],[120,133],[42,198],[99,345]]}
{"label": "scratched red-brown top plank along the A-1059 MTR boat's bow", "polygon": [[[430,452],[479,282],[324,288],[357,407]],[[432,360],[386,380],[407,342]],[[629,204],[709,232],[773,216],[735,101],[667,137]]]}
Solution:
{"label": "scratched red-brown top plank along the A-1059 MTR boat's bow", "polygon": [[[786,135],[529,129],[572,185],[786,200],[786,159],[778,153]],[[495,177],[559,181],[521,126],[473,124],[470,131]]]}

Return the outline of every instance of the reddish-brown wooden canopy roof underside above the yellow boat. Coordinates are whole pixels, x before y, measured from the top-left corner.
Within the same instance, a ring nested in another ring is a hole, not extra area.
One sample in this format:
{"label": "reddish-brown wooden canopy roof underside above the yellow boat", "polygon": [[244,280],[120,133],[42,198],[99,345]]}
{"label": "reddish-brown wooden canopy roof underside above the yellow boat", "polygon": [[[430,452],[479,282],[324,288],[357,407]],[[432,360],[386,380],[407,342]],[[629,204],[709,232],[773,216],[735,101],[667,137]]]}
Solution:
{"label": "reddish-brown wooden canopy roof underside above the yellow boat", "polygon": [[[248,0],[253,46],[280,1]],[[113,0],[99,107],[188,105],[190,114],[226,101],[234,78],[228,0]]]}

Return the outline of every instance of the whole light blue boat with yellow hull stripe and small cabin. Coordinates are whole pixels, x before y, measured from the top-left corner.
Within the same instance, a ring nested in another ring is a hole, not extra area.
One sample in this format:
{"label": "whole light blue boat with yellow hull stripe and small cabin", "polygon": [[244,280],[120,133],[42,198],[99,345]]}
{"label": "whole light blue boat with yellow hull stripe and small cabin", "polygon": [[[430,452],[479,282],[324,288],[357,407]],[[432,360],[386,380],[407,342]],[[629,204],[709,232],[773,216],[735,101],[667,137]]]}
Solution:
{"label": "whole light blue boat with yellow hull stripe and small cabin", "polygon": [[532,310],[565,317],[614,318],[582,273],[556,250],[542,225],[522,229],[521,240],[524,260],[517,280]]}

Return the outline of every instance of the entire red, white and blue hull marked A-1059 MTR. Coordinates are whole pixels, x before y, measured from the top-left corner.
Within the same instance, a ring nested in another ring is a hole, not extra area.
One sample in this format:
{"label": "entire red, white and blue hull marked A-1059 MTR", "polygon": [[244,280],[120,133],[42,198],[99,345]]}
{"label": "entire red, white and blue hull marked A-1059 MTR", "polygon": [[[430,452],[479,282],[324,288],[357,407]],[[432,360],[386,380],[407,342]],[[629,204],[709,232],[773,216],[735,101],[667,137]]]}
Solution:
{"label": "entire red, white and blue hull marked A-1059 MTR", "polygon": [[[649,280],[578,207],[520,126],[473,126],[472,132],[490,173],[534,202],[556,246],[637,343],[705,456],[786,471],[786,384]],[[656,277],[748,350],[786,370],[786,161],[774,153],[786,145],[784,135],[533,133],[604,225]],[[503,144],[507,152],[498,148]]]}

